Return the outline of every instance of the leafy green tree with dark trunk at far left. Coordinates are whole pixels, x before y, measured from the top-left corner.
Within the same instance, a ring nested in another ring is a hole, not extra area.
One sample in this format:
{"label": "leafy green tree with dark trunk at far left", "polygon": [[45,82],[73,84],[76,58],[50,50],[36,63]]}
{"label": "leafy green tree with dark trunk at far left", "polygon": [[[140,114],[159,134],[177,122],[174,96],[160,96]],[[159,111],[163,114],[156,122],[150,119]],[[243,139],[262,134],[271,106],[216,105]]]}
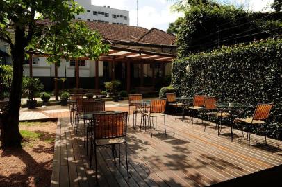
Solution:
{"label": "leafy green tree with dark trunk at far left", "polygon": [[[0,39],[9,44],[13,57],[10,100],[0,114],[0,140],[2,147],[20,146],[19,107],[26,50],[50,52],[49,62],[58,62],[62,54],[64,57],[88,54],[90,59],[95,59],[108,47],[101,43],[97,34],[92,36],[95,42],[87,43],[89,39],[86,37],[92,32],[83,24],[72,21],[74,15],[84,11],[74,0],[0,0],[0,7]],[[70,31],[72,36],[66,35]]]}

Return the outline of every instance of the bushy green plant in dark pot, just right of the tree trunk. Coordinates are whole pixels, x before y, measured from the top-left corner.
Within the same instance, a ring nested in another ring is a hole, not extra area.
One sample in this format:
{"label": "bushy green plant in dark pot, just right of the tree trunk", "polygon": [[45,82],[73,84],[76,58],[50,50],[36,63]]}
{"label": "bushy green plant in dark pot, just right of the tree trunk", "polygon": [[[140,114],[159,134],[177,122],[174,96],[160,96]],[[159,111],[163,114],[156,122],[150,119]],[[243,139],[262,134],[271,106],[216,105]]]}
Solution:
{"label": "bushy green plant in dark pot, just right of the tree trunk", "polygon": [[44,85],[38,78],[31,77],[24,77],[22,84],[23,94],[26,94],[28,98],[26,105],[28,106],[28,109],[33,109],[38,103],[37,100],[34,99],[34,94],[36,91],[41,91],[44,88]]}

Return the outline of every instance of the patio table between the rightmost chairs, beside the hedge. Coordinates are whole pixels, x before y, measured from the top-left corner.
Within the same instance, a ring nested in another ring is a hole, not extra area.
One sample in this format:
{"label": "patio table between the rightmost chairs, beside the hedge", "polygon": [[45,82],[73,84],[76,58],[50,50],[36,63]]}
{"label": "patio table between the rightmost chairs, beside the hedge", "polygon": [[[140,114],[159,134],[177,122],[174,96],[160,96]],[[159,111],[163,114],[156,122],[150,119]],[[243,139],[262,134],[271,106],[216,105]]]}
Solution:
{"label": "patio table between the rightmost chairs, beside the hedge", "polygon": [[[231,128],[231,141],[233,141],[233,135],[234,135],[234,114],[235,112],[240,112],[242,115],[245,115],[245,109],[248,109],[249,107],[251,107],[251,105],[245,105],[242,103],[233,103],[233,105],[229,105],[229,103],[217,103],[215,104],[218,108],[221,109],[228,109],[229,113],[231,114],[231,124],[230,124],[230,128]],[[219,134],[222,130],[222,126],[220,125],[220,130],[219,130]]]}

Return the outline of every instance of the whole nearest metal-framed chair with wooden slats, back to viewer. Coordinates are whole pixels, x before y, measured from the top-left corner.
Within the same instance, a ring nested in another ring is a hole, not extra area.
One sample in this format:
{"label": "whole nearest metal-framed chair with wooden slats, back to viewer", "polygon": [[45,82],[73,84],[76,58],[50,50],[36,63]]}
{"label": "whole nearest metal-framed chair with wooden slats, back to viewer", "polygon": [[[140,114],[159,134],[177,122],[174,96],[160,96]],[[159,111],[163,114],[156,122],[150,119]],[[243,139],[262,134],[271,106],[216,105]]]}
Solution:
{"label": "whole nearest metal-framed chair with wooden slats, back to viewer", "polygon": [[[113,114],[93,114],[94,131],[91,136],[91,148],[94,145],[94,159],[95,159],[95,175],[97,180],[97,147],[112,145],[112,153],[115,160],[115,145],[119,145],[119,164],[120,164],[120,144],[125,144],[126,170],[128,173],[127,161],[127,116],[128,112],[119,112]],[[90,154],[90,166],[92,163],[92,153]],[[116,162],[115,162],[116,163]]]}

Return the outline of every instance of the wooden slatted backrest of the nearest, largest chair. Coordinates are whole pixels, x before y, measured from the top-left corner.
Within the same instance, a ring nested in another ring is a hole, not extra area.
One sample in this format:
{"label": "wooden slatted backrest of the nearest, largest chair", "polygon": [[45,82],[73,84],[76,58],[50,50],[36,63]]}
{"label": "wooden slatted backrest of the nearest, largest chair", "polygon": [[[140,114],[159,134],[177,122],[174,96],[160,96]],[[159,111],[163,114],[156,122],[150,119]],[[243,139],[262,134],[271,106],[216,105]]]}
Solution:
{"label": "wooden slatted backrest of the nearest, largest chair", "polygon": [[113,139],[126,136],[128,112],[93,114],[94,139]]}

